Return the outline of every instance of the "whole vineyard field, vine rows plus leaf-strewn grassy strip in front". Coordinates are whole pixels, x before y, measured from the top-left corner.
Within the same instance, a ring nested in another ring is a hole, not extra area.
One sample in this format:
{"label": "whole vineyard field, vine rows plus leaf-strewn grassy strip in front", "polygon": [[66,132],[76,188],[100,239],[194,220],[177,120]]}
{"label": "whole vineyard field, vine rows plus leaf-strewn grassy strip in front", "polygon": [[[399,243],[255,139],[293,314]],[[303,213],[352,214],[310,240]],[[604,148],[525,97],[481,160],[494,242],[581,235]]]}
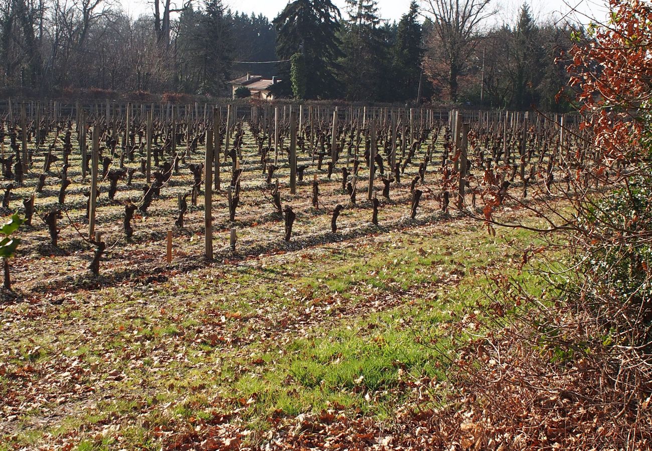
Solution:
{"label": "whole vineyard field, vine rows plus leaf-strewn grassy strip in front", "polygon": [[589,188],[571,116],[10,102],[0,133],[3,214],[27,218],[0,449],[238,449],[382,416],[446,365],[402,328],[531,246],[494,215]]}

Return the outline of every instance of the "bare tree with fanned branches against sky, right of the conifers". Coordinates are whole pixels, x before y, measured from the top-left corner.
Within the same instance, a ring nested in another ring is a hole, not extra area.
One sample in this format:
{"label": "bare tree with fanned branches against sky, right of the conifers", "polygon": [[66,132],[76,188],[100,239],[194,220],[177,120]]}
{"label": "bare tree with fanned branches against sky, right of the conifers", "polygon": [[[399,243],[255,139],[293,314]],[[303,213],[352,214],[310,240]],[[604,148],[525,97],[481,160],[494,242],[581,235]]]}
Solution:
{"label": "bare tree with fanned branches against sky, right of the conifers", "polygon": [[445,83],[452,101],[458,100],[458,78],[482,39],[482,24],[494,14],[492,0],[424,0],[432,16],[428,36],[430,72]]}

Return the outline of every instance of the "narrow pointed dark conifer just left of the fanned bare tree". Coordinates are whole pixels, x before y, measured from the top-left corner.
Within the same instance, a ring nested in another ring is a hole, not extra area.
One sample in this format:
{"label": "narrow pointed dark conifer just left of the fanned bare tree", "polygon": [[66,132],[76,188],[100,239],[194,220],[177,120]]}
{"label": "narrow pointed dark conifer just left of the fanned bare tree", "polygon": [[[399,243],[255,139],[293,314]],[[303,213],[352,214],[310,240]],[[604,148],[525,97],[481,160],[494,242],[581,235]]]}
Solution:
{"label": "narrow pointed dark conifer just left of the fanned bare tree", "polygon": [[413,0],[396,29],[396,43],[393,48],[396,80],[394,100],[415,100],[418,95],[423,58],[422,29],[418,18],[419,5]]}

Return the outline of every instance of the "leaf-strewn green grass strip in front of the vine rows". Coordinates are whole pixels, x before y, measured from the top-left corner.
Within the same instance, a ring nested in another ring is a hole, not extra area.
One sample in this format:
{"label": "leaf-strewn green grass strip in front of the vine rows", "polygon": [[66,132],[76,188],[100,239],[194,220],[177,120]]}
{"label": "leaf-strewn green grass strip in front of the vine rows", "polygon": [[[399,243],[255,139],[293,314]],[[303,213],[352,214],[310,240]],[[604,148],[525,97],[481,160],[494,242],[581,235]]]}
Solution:
{"label": "leaf-strewn green grass strip in front of the vine rows", "polygon": [[[37,358],[25,345],[14,362],[50,368],[29,381],[46,397],[90,407],[80,415],[55,404],[58,419],[48,423],[37,407],[4,441],[71,441],[95,450],[120,439],[130,449],[157,449],[155,431],[224,414],[254,431],[248,440],[256,442],[274,415],[333,406],[391,422],[414,399],[415,386],[430,390],[445,377],[456,340],[465,339],[450,336],[446,325],[481,298],[483,270],[518,259],[509,243],[530,240],[512,230],[488,237],[470,221],[426,225],[181,273],[130,285],[123,295],[113,288],[80,293],[93,301],[51,308],[38,327],[43,337],[61,328],[82,333],[42,343],[47,353]],[[519,277],[536,287],[534,274]],[[25,340],[30,334],[9,332]],[[49,385],[44,375],[63,373],[64,359],[82,373]],[[3,392],[12,384],[0,379]]]}

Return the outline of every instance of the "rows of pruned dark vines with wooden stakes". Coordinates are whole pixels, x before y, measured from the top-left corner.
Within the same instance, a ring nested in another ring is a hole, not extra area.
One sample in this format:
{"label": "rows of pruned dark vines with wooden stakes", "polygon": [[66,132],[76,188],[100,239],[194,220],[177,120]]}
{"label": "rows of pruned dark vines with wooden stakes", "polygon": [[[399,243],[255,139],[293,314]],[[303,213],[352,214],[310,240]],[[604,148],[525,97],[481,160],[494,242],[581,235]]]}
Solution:
{"label": "rows of pruned dark vines with wooden stakes", "polygon": [[[556,158],[582,142],[560,128],[563,117],[527,113],[242,110],[107,103],[106,112],[30,105],[26,114],[23,104],[8,113],[3,209],[28,219],[16,286],[42,296],[80,280],[156,276],[170,257],[193,268],[450,212],[482,216],[508,195],[552,194]],[[560,177],[568,189],[571,175]]]}

